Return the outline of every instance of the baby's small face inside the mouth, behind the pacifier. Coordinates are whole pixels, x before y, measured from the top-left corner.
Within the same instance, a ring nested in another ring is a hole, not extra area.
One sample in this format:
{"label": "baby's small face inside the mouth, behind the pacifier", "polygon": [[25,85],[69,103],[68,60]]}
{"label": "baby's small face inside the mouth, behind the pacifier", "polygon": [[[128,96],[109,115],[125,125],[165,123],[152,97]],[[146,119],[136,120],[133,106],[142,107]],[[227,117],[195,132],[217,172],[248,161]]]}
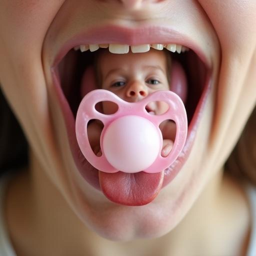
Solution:
{"label": "baby's small face inside the mouth, behind the pacifier", "polygon": [[[136,102],[157,90],[168,90],[167,61],[164,51],[150,50],[134,54],[112,54],[104,51],[98,58],[101,88],[128,102]],[[150,102],[148,111],[160,114],[167,110],[162,101]],[[116,105],[103,102],[103,111],[113,113]]]}

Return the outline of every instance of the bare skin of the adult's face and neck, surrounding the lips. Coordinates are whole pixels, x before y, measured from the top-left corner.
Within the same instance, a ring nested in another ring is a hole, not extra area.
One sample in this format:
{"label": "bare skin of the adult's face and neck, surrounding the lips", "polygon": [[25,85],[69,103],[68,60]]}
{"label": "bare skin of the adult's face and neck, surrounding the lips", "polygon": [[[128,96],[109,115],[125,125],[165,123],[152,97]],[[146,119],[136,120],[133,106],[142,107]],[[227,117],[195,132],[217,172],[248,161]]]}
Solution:
{"label": "bare skin of the adult's face and neck, surrounding the lips", "polygon": [[[12,179],[6,195],[6,224],[17,254],[242,255],[249,205],[242,186],[223,175],[222,166],[255,106],[255,1],[73,3],[0,1],[1,88],[30,143],[29,166]],[[108,22],[183,29],[212,63],[213,89],[190,157],[142,207],[113,204],[81,180],[52,88],[50,65],[65,39]]]}

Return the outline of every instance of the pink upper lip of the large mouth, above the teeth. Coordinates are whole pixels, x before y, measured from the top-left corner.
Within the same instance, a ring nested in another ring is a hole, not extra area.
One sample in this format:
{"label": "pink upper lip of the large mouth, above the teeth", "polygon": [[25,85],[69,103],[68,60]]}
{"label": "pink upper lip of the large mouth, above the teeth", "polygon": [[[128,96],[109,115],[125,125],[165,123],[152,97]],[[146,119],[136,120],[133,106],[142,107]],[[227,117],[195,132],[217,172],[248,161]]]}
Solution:
{"label": "pink upper lip of the large mouth, above the teeth", "polygon": [[55,67],[74,46],[99,43],[119,43],[129,45],[145,43],[176,43],[192,49],[207,68],[211,68],[212,65],[210,53],[203,50],[193,38],[190,38],[181,31],[176,31],[166,26],[140,26],[130,28],[117,25],[103,25],[82,30],[65,41],[53,58],[51,66]]}

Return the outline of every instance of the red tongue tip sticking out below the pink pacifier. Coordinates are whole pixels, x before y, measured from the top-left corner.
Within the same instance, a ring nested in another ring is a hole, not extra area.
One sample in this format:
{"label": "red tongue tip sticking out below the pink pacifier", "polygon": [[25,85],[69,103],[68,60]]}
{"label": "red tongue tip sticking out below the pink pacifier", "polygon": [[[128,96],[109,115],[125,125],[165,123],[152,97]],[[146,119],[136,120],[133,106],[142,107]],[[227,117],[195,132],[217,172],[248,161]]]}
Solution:
{"label": "red tongue tip sticking out below the pink pacifier", "polygon": [[111,201],[124,205],[144,205],[159,193],[164,171],[157,173],[98,172],[99,184],[104,195]]}

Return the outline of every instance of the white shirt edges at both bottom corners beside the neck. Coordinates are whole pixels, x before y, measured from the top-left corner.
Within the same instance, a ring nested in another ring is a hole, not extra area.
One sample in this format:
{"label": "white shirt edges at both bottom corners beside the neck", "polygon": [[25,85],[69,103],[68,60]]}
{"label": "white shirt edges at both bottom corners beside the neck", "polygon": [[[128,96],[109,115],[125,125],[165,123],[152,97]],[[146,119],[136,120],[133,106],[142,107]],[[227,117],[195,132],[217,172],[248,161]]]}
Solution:
{"label": "white shirt edges at both bottom corners beside the neck", "polygon": [[[8,236],[3,215],[3,200],[5,198],[5,188],[11,175],[0,178],[0,256],[17,256]],[[246,256],[256,256],[256,188],[247,186],[246,192],[251,206],[252,226],[251,235]]]}

